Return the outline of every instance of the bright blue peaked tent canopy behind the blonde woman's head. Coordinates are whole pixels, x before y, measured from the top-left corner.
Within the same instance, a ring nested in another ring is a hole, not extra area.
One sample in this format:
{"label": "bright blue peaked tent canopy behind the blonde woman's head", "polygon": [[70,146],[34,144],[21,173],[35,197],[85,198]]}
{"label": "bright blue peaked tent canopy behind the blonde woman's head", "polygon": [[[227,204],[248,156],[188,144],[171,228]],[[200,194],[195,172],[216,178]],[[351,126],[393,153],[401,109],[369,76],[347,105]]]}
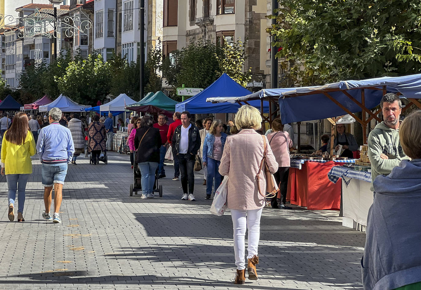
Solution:
{"label": "bright blue peaked tent canopy behind the blonde woman's head", "polygon": [[[222,74],[202,92],[184,102],[178,103],[176,105],[176,111],[189,111],[192,114],[237,113],[240,108],[240,104],[238,103],[210,103],[206,102],[206,99],[212,97],[239,97],[250,93],[249,90],[240,86],[240,84],[231,79],[227,74]],[[250,105],[260,110],[260,101],[250,101]],[[268,102],[265,102],[264,111],[269,111]]]}

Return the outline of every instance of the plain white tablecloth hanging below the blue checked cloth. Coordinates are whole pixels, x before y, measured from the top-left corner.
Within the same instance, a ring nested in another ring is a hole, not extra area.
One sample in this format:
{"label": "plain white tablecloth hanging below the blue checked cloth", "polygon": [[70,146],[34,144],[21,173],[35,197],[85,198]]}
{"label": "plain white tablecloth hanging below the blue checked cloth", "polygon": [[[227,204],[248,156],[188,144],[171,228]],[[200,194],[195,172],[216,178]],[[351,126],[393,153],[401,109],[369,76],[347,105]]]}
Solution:
{"label": "plain white tablecloth hanging below the blue checked cloth", "polygon": [[373,204],[373,192],[370,182],[352,178],[348,185],[342,179],[342,225],[365,231],[367,215]]}

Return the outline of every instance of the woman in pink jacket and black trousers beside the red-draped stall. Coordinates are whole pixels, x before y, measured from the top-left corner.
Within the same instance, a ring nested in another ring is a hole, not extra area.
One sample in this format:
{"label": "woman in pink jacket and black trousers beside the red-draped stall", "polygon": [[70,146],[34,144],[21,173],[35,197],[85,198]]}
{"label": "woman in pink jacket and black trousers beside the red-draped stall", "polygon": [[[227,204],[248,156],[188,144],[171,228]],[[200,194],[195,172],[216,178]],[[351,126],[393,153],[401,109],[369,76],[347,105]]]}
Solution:
{"label": "woman in pink jacket and black trousers beside the red-draped stall", "polygon": [[278,207],[277,197],[272,198],[270,204],[272,208],[291,209],[289,206],[285,206],[287,197],[288,187],[288,174],[290,168],[290,156],[289,148],[292,147],[292,140],[289,137],[288,132],[284,132],[284,125],[281,119],[276,118],[272,121],[273,132],[267,135],[269,140],[270,148],[272,148],[273,155],[279,164],[278,171],[274,174],[276,183],[280,183],[281,200]]}

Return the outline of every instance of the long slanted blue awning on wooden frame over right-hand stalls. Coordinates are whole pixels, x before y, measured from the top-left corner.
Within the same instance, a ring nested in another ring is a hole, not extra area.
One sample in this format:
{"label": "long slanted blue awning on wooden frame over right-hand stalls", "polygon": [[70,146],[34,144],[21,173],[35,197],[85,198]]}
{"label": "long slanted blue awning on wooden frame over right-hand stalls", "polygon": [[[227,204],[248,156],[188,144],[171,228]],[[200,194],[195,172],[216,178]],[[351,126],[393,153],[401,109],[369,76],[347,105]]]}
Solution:
{"label": "long slanted blue awning on wooden frame over right-hand stalls", "polygon": [[313,87],[293,87],[281,89],[265,89],[250,95],[237,98],[210,98],[208,101],[247,101],[266,97],[278,97],[282,123],[299,121],[311,121],[342,116],[344,111],[338,104],[333,102],[326,94],[344,106],[351,113],[361,112],[362,108],[357,105],[349,94],[362,103],[361,92],[364,91],[365,107],[376,107],[383,96],[383,88],[387,92],[402,94],[401,98],[421,98],[421,74],[396,77],[380,77],[359,81],[341,81],[332,84]]}

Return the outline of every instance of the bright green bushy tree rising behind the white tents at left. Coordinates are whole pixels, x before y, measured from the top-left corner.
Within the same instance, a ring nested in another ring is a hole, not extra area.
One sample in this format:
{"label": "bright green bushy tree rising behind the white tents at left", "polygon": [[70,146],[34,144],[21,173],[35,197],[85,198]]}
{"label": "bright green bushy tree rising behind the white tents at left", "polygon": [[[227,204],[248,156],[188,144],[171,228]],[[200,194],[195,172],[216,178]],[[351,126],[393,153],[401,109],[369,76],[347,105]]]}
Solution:
{"label": "bright green bushy tree rising behind the white tents at left", "polygon": [[100,54],[90,54],[86,59],[71,61],[66,73],[54,79],[64,95],[77,103],[94,105],[109,94],[111,76],[111,64]]}

